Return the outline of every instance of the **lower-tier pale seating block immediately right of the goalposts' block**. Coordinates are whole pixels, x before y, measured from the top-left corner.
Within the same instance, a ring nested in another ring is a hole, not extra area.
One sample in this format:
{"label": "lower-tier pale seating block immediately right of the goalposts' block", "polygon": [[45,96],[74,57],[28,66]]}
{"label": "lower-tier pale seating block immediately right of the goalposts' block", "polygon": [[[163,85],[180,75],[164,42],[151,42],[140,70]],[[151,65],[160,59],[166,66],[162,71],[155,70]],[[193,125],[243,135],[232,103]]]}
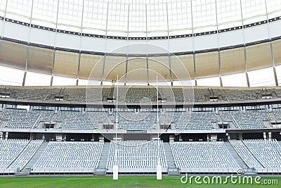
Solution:
{"label": "lower-tier pale seating block immediately right of the goalposts' block", "polygon": [[170,142],[177,168],[239,168],[223,142]]}

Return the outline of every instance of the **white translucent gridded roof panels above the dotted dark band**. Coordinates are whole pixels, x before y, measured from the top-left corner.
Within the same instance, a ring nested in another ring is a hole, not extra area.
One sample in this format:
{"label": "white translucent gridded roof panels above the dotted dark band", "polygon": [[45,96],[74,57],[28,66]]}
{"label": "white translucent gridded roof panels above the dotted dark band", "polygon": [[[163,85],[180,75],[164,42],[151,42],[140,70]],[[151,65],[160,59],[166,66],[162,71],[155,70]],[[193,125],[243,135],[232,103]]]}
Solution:
{"label": "white translucent gridded roof panels above the dotted dark band", "polygon": [[[281,15],[280,0],[0,0],[6,18],[94,35],[160,37],[208,32]],[[193,27],[192,27],[193,21]],[[169,30],[169,31],[168,31]],[[128,33],[129,32],[129,33]]]}

